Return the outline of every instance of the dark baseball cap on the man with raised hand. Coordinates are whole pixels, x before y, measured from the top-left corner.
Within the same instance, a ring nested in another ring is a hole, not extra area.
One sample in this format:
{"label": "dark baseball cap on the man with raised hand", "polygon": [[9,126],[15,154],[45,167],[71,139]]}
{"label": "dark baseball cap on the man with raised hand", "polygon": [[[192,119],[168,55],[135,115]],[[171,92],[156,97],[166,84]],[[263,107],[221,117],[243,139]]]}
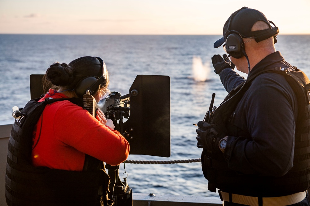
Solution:
{"label": "dark baseball cap on the man with raised hand", "polygon": [[[214,48],[218,48],[219,46],[225,43],[229,31],[237,31],[244,37],[255,36],[255,34],[257,34],[257,31],[251,32],[251,29],[253,27],[253,24],[257,21],[266,22],[269,25],[269,29],[266,30],[270,30],[272,28],[266,16],[258,10],[250,9],[248,7],[242,7],[241,9],[235,11],[234,13],[232,13],[232,15],[230,15],[230,17],[224,24],[223,37],[214,43],[213,45]],[[279,30],[277,30],[277,33],[278,32]]]}

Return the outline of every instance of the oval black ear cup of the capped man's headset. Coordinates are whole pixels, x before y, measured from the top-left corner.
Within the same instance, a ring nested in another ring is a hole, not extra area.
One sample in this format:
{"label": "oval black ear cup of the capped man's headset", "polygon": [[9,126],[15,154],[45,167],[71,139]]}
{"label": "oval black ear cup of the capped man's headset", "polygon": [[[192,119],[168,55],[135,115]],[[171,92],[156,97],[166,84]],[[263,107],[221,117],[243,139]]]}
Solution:
{"label": "oval black ear cup of the capped man's headset", "polygon": [[231,33],[226,38],[226,51],[227,53],[236,58],[239,59],[243,57],[243,40],[240,35],[236,33]]}

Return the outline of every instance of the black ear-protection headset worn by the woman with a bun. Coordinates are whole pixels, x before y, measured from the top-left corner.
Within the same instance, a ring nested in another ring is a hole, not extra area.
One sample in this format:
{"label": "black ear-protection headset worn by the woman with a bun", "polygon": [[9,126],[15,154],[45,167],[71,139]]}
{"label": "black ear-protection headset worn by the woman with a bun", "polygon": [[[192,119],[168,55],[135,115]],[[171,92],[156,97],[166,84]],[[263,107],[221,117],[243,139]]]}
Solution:
{"label": "black ear-protection headset worn by the woman with a bun", "polygon": [[96,58],[100,61],[100,64],[102,65],[102,76],[100,78],[95,76],[87,76],[81,79],[75,87],[75,93],[80,98],[83,98],[83,95],[86,94],[87,90],[89,90],[89,93],[91,95],[95,95],[99,91],[101,84],[106,79],[107,67],[100,57]]}

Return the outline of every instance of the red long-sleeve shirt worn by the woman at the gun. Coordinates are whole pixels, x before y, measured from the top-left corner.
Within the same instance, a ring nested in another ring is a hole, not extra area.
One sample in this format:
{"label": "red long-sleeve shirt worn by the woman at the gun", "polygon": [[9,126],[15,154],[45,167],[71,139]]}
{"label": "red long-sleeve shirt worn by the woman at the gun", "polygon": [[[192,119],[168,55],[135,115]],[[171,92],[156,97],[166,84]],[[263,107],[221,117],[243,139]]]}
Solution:
{"label": "red long-sleeve shirt worn by the woman at the gun", "polygon": [[[49,97],[68,98],[50,89],[40,101]],[[117,130],[68,100],[45,107],[33,138],[33,166],[82,171],[85,154],[110,165],[122,163],[129,154],[129,143]]]}

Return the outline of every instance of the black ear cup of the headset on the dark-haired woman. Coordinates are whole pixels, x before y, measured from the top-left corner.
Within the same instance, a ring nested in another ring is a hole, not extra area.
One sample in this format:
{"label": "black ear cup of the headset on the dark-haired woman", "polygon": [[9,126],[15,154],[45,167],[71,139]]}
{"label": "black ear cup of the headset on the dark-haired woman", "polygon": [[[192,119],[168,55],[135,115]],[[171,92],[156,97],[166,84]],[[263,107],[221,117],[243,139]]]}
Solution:
{"label": "black ear cup of the headset on the dark-haired woman", "polygon": [[100,85],[98,88],[91,90],[91,86],[95,84],[98,81],[99,78],[95,76],[88,76],[83,79],[81,79],[77,86],[75,87],[75,93],[78,95],[78,97],[83,98],[83,95],[86,94],[87,90],[90,90],[90,94],[93,95],[100,89]]}

